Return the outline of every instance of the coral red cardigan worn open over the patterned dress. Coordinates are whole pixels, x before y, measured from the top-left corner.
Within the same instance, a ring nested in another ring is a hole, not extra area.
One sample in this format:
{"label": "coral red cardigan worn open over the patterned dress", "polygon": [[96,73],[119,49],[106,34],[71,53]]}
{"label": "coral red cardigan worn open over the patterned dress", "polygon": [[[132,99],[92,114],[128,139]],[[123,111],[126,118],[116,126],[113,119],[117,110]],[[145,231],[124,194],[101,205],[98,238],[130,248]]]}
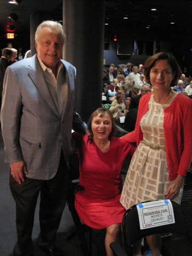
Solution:
{"label": "coral red cardigan worn open over the patterned dress", "polygon": [[[140,99],[135,130],[125,136],[123,140],[137,142],[143,140],[140,120],[148,111],[151,93]],[[163,128],[165,134],[166,158],[169,170],[169,180],[175,180],[177,174],[186,176],[192,162],[192,100],[178,93],[171,105],[164,109]]]}

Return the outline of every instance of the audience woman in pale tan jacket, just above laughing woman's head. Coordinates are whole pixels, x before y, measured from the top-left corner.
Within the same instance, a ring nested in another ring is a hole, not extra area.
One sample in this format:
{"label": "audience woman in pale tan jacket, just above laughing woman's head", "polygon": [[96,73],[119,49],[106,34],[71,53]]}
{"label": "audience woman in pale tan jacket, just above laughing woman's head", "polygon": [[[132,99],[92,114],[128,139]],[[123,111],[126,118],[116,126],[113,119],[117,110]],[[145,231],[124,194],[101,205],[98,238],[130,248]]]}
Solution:
{"label": "audience woman in pale tan jacket, just above laughing woman's head", "polygon": [[125,116],[125,93],[123,90],[119,90],[116,99],[111,103],[109,111],[112,113],[113,118],[118,118],[119,116]]}

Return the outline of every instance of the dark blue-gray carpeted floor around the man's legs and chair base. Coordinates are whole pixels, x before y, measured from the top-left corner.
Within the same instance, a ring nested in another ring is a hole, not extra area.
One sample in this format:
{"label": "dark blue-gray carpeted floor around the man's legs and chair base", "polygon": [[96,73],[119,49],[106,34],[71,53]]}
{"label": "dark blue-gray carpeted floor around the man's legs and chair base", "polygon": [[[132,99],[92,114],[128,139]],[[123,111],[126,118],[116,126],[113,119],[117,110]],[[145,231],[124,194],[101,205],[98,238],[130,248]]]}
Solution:
{"label": "dark blue-gray carpeted floor around the man's legs and chair base", "polygon": [[[37,237],[40,231],[38,209],[39,201],[35,211],[32,239],[35,246],[35,256],[46,256],[46,253],[42,252],[37,247]],[[65,207],[57,234],[56,244],[66,256],[83,256],[77,236],[70,240],[70,242],[65,240],[73,230],[73,219],[68,207]],[[3,140],[0,132],[0,256],[12,256],[12,250],[16,241],[15,201],[9,189],[9,164],[4,163]],[[106,256],[104,242],[105,233],[103,233],[102,230],[93,230],[93,256]]]}

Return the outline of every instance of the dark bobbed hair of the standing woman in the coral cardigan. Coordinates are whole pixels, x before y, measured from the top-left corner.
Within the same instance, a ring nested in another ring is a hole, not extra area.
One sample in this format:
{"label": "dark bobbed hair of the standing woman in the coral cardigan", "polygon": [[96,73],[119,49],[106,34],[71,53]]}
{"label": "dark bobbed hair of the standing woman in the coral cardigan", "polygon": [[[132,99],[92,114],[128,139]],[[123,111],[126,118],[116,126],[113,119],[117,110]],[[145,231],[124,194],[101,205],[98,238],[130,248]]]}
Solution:
{"label": "dark bobbed hair of the standing woman in the coral cardigan", "polygon": [[168,52],[160,52],[160,53],[154,54],[145,61],[145,64],[143,66],[143,68],[144,68],[143,69],[143,74],[145,75],[145,80],[149,84],[151,84],[151,82],[150,82],[150,71],[151,71],[151,68],[154,67],[156,62],[159,61],[159,60],[166,60],[167,63],[172,68],[172,73],[173,74],[175,73],[175,77],[172,80],[170,86],[175,86],[175,83],[177,82],[177,80],[182,75],[182,71],[180,70],[180,67],[179,67],[175,57],[172,55],[172,53],[168,53]]}

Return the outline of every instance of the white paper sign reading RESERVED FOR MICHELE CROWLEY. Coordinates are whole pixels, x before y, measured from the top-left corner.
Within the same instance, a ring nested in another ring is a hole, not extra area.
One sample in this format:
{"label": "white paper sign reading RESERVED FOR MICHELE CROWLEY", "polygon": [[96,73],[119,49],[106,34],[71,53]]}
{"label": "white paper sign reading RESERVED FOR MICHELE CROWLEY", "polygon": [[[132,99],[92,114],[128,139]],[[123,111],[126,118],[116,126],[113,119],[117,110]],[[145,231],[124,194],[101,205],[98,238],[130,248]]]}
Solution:
{"label": "white paper sign reading RESERVED FOR MICHELE CROWLEY", "polygon": [[140,229],[157,227],[175,223],[174,212],[170,200],[158,200],[137,204]]}

